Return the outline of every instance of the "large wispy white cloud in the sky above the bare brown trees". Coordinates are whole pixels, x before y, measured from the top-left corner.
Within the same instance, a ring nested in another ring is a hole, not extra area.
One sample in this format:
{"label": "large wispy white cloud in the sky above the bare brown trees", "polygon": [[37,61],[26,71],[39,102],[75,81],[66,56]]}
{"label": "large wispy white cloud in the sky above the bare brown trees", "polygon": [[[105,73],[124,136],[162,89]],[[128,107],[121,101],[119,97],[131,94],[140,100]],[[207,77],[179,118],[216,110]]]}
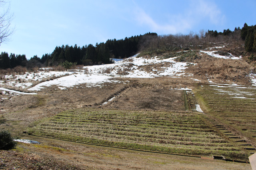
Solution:
{"label": "large wispy white cloud in the sky above the bare brown trees", "polygon": [[[191,0],[188,4],[188,10],[181,9],[180,14],[170,14],[170,16],[162,16],[166,19],[166,23],[161,24],[153,20],[150,14],[147,14],[142,8],[134,3],[135,20],[138,24],[148,26],[152,31],[160,34],[184,33],[192,29],[192,27],[200,23],[210,23],[212,25],[222,25],[226,20],[221,10],[214,2],[206,0]],[[178,8],[178,7],[177,7]]]}

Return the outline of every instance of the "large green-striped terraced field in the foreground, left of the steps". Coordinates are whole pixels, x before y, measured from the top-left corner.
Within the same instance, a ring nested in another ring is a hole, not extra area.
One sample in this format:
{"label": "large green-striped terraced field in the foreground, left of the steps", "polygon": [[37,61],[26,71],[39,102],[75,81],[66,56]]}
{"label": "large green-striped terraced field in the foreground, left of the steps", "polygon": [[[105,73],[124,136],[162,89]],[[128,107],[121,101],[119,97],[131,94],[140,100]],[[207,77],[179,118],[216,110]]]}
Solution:
{"label": "large green-striped terraced field in the foreground, left of the steps", "polygon": [[201,116],[196,112],[76,109],[36,122],[30,133],[130,149],[247,159],[246,152],[230,144]]}

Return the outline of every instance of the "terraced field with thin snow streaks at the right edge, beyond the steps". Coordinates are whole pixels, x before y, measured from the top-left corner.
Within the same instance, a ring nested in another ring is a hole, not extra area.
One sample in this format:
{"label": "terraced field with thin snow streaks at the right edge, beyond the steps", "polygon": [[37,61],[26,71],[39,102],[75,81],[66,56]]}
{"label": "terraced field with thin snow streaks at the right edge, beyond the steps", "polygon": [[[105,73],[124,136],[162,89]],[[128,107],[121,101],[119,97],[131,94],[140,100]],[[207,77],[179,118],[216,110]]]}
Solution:
{"label": "terraced field with thin snow streaks at the right edge, beyond the steps", "polygon": [[204,84],[197,92],[214,117],[256,139],[255,86]]}

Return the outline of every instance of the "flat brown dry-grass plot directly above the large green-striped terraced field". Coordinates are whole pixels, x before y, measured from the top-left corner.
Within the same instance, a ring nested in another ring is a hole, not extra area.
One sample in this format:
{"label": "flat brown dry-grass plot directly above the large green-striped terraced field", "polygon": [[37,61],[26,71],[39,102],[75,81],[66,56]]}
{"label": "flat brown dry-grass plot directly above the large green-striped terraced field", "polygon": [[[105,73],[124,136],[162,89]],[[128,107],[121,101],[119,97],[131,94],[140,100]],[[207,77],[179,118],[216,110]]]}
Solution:
{"label": "flat brown dry-grass plot directly above the large green-striped terraced field", "polygon": [[184,110],[183,91],[131,87],[116,96],[106,108],[144,110]]}

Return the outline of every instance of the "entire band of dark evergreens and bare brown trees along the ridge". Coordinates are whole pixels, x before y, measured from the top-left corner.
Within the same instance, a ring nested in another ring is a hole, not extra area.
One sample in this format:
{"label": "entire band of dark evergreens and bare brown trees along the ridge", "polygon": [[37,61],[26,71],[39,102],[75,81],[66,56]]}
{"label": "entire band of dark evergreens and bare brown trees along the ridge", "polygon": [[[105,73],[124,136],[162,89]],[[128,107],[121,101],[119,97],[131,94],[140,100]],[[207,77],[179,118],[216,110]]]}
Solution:
{"label": "entire band of dark evergreens and bare brown trees along the ridge", "polygon": [[[96,45],[57,46],[50,54],[46,53],[41,58],[35,55],[29,60],[26,55],[15,55],[2,52],[0,55],[0,69],[16,68],[22,66],[28,70],[46,66],[58,66],[65,63],[79,65],[95,65],[111,63],[110,58],[124,59],[141,53],[141,55],[161,54],[170,51],[188,49],[204,49],[214,42],[244,43],[250,61],[256,60],[256,25],[236,27],[234,31],[224,29],[223,32],[213,30],[200,30],[199,33],[190,32],[188,35],[157,35],[146,33],[125,39],[108,39],[105,43]],[[65,63],[64,63],[65,61]],[[20,67],[19,67],[20,68]],[[17,69],[16,69],[17,70]]]}

